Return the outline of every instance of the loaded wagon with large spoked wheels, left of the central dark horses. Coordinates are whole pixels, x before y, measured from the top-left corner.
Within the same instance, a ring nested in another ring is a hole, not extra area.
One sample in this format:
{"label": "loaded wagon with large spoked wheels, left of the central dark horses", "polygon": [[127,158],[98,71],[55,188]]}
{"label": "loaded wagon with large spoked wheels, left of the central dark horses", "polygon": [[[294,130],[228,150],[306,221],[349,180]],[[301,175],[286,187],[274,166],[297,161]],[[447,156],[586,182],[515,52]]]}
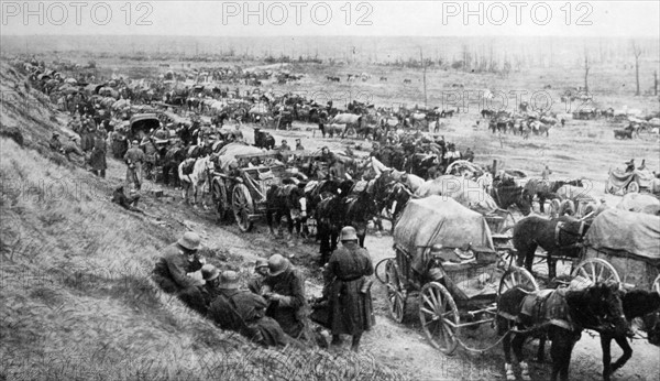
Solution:
{"label": "loaded wagon with large spoked wheels, left of the central dark horses", "polygon": [[285,170],[277,155],[242,143],[220,150],[217,171],[209,178],[220,219],[231,210],[239,228],[250,231],[254,220],[265,215],[268,187],[280,184]]}

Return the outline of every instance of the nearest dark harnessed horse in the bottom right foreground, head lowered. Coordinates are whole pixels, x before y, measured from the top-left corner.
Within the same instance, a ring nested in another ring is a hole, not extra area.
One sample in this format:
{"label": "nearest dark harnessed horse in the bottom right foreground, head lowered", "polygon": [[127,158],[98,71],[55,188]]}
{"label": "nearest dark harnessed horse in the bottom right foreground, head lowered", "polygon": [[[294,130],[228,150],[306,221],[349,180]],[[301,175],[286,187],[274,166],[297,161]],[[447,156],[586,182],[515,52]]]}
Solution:
{"label": "nearest dark harnessed horse in the bottom right foreground, head lowered", "polygon": [[[508,329],[516,330],[508,330]],[[574,291],[543,290],[529,293],[519,287],[507,290],[497,301],[497,330],[503,338],[507,380],[515,380],[512,349],[520,364],[522,380],[530,380],[522,345],[529,336],[547,336],[552,346],[550,379],[569,379],[571,353],[582,329],[625,335],[628,324],[624,317],[618,284],[598,283]],[[539,346],[539,352],[543,347]]]}

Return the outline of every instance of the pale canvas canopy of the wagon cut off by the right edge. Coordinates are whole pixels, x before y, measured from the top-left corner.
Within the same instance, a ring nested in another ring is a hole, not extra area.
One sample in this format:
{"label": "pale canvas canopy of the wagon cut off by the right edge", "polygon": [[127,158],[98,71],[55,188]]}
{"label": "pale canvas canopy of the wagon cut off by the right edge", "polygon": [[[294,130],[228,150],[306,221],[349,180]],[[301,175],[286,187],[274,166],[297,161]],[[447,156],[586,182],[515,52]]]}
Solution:
{"label": "pale canvas canopy of the wagon cut off by the right edge", "polygon": [[660,264],[660,216],[607,209],[594,219],[585,238],[596,250],[624,251]]}

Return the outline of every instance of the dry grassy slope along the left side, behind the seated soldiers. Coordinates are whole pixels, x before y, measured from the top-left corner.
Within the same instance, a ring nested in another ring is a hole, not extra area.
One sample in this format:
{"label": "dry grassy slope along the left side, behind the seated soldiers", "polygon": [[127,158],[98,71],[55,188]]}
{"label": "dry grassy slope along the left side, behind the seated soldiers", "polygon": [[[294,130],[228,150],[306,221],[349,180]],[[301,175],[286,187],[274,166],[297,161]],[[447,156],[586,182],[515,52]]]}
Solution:
{"label": "dry grassy slope along the left side, behind the seated soldiers", "polygon": [[[3,91],[23,86],[0,73]],[[365,356],[256,348],[160,293],[148,272],[180,231],[125,213],[107,182],[52,156],[62,116],[21,92],[36,106],[3,101],[1,117],[25,146],[0,140],[0,379],[399,378]]]}

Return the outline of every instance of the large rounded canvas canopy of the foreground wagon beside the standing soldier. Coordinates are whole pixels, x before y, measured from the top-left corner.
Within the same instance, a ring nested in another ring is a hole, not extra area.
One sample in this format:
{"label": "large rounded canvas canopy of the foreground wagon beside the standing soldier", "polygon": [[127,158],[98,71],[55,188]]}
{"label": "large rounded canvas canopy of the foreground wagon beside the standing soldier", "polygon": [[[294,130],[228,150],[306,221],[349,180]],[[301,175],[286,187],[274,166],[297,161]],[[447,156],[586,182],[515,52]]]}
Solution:
{"label": "large rounded canvas canopy of the foreground wagon beside the standing soldier", "polygon": [[418,247],[437,243],[447,248],[474,248],[494,250],[491,229],[481,214],[470,210],[452,198],[429,196],[411,199],[394,228],[394,241],[408,253]]}

